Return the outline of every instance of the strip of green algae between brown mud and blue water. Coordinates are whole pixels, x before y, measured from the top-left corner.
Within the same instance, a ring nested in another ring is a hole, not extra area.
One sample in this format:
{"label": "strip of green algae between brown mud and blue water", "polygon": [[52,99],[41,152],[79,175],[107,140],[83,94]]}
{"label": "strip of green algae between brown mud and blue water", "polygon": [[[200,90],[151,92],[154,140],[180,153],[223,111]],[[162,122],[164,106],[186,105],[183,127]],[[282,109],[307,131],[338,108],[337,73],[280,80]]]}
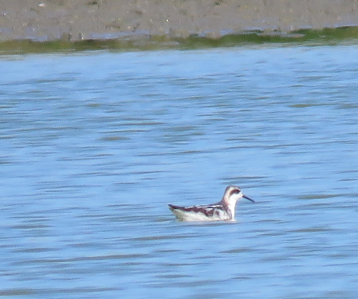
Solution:
{"label": "strip of green algae between brown mud and blue water", "polygon": [[279,31],[249,31],[240,34],[226,34],[220,37],[190,35],[187,38],[166,35],[138,35],[116,39],[87,39],[71,41],[7,40],[0,42],[0,54],[79,52],[84,50],[161,50],[161,49],[205,49],[251,44],[270,43],[313,43],[337,44],[343,41],[355,43],[358,40],[358,26],[338,28],[300,29],[290,33]]}

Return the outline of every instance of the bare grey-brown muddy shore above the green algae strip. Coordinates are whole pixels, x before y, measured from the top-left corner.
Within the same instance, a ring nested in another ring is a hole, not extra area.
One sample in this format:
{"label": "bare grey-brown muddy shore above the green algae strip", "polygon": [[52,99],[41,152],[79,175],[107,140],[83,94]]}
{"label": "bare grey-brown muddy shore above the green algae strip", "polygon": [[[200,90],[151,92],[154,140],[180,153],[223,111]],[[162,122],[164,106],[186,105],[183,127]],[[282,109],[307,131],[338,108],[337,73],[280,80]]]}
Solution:
{"label": "bare grey-brown muddy shore above the green algae strip", "polygon": [[1,0],[0,41],[218,37],[358,25],[357,0]]}

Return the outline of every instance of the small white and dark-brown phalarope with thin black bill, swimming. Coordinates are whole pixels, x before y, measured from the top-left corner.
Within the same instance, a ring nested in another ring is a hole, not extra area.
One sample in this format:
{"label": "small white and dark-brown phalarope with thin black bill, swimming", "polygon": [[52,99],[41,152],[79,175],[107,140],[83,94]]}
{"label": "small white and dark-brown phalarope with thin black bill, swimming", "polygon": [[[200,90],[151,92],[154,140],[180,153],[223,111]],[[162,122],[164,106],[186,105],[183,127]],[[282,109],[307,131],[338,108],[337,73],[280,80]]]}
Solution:
{"label": "small white and dark-brown phalarope with thin black bill, swimming", "polygon": [[180,207],[168,205],[178,220],[183,221],[215,221],[215,220],[234,220],[235,207],[238,200],[246,198],[255,202],[251,198],[243,195],[238,186],[227,186],[224,196],[217,204],[205,206]]}

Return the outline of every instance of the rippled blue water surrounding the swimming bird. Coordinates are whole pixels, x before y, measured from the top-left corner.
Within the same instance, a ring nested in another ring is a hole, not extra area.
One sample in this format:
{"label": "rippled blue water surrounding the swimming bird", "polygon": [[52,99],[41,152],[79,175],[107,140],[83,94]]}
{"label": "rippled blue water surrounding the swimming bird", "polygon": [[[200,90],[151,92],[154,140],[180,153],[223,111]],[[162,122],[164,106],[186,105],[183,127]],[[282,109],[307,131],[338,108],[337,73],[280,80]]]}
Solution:
{"label": "rippled blue water surrounding the swimming bird", "polygon": [[[0,296],[356,298],[358,46],[0,56]],[[236,222],[178,222],[228,184]]]}

